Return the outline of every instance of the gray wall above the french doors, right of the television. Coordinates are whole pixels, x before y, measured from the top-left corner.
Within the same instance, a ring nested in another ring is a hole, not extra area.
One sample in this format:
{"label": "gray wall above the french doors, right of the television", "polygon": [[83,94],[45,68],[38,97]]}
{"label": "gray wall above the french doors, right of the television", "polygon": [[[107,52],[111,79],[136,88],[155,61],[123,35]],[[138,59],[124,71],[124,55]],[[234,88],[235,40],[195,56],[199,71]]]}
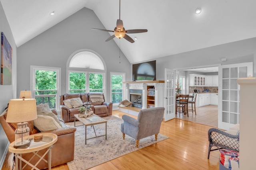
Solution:
{"label": "gray wall above the french doors, right of the television", "polygon": [[[204,49],[189,51],[156,59],[156,78],[164,80],[164,68],[180,69],[213,64],[236,64],[254,62],[256,76],[256,38],[216,45]],[[221,59],[227,61],[222,62]]]}

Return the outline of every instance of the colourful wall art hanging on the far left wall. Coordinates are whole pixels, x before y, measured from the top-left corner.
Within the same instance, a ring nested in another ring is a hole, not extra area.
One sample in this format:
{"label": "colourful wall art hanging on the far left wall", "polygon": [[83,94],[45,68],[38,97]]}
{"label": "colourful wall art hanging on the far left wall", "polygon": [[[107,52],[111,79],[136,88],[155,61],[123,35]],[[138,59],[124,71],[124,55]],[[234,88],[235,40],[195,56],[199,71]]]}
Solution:
{"label": "colourful wall art hanging on the far left wall", "polygon": [[12,47],[1,32],[1,85],[12,85]]}

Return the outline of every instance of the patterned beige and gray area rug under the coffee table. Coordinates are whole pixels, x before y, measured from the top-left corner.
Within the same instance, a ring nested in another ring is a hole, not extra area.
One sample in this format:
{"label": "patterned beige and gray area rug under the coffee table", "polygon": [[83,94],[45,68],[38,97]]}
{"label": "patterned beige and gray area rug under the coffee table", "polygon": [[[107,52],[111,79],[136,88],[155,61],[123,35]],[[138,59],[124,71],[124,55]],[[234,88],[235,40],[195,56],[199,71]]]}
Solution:
{"label": "patterned beige and gray area rug under the coffee table", "polygon": [[[142,149],[154,143],[168,139],[168,137],[158,134],[157,141],[155,135],[140,139],[139,147],[136,148],[135,139],[125,136],[123,140],[120,125],[123,120],[115,116],[103,117],[107,123],[107,139],[105,136],[87,140],[85,145],[85,127],[76,127],[75,133],[75,154],[74,160],[68,162],[70,170],[85,170],[118,158],[138,149]],[[74,126],[74,122],[66,123],[67,126]],[[76,121],[76,126],[82,125]],[[105,123],[94,125],[97,136],[105,134]],[[87,126],[87,138],[95,137],[93,127]]]}

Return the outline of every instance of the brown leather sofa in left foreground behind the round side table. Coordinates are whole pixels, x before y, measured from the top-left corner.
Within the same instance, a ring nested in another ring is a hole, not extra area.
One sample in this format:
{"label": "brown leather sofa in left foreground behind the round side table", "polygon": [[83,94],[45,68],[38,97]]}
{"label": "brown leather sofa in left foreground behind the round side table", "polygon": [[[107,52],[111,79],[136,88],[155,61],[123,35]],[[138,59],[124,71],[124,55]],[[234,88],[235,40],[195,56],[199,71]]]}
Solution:
{"label": "brown leather sofa in left foreground behind the round side table", "polygon": [[[56,114],[56,112],[53,111],[53,113]],[[4,132],[6,133],[6,136],[8,137],[8,140],[10,143],[15,141],[15,134],[14,131],[17,128],[17,123],[8,123],[6,122],[7,113],[0,116],[0,123],[4,129]],[[52,166],[57,166],[61,164],[65,164],[67,162],[70,162],[74,160],[74,143],[75,143],[75,127],[66,127],[63,121],[62,128],[54,129],[51,131],[45,131],[40,132],[36,127],[34,127],[33,121],[28,121],[28,127],[30,128],[30,135],[33,134],[42,134],[42,133],[54,133],[58,136],[58,141],[52,145]],[[40,150],[38,152],[39,155],[43,155],[46,152],[47,149]],[[22,158],[25,160],[29,160],[34,154],[28,153],[28,154],[22,154]],[[47,157],[45,157],[47,160]],[[37,156],[35,156],[30,163],[36,164],[36,162],[39,160]],[[24,166],[24,162],[22,162],[22,166]],[[44,169],[48,168],[48,164],[44,161],[41,161],[37,168]],[[24,170],[31,169],[30,166],[26,166]]]}

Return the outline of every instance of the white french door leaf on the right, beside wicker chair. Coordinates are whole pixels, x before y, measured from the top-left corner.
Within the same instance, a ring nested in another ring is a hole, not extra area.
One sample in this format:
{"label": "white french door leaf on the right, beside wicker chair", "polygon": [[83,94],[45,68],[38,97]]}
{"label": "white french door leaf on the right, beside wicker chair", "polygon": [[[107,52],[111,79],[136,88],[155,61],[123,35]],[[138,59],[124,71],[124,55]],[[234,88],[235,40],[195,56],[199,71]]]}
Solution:
{"label": "white french door leaf on the right, beside wicker chair", "polygon": [[218,84],[218,128],[227,130],[240,119],[240,86],[238,78],[252,76],[253,63],[219,66]]}

